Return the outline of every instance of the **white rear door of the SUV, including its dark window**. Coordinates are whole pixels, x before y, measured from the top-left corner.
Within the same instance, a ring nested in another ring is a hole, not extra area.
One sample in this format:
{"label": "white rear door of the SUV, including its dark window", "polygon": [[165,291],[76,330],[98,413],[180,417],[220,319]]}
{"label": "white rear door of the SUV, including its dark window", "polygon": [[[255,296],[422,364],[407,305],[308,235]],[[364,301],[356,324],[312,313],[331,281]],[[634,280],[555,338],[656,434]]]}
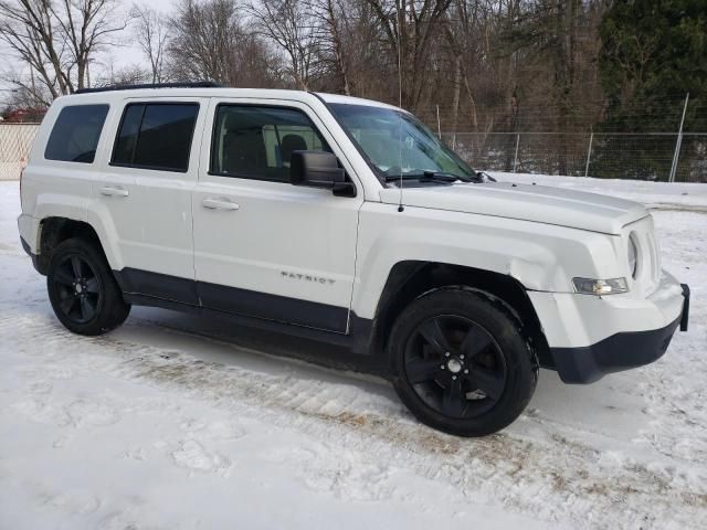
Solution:
{"label": "white rear door of the SUV, including its dark window", "polygon": [[179,97],[128,99],[120,109],[93,199],[118,242],[117,276],[128,293],[199,303],[191,193],[207,107],[208,98]]}

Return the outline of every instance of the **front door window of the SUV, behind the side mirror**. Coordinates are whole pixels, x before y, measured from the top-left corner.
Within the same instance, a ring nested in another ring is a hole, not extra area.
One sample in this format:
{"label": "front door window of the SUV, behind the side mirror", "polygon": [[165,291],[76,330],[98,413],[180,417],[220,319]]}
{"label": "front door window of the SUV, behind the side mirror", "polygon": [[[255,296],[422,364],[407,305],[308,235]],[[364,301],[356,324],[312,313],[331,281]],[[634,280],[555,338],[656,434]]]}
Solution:
{"label": "front door window of the SUV, behind the side mirror", "polygon": [[211,173],[287,181],[293,151],[330,151],[304,113],[293,108],[220,105]]}

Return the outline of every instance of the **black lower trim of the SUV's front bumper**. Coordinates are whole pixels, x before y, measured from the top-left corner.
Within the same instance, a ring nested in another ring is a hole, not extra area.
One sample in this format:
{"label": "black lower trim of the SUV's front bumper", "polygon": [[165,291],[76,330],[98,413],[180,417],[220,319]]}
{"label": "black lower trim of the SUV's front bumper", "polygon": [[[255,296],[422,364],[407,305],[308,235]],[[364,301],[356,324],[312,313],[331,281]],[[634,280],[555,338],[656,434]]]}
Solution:
{"label": "black lower trim of the SUV's front bumper", "polygon": [[592,346],[550,348],[555,368],[564,383],[592,383],[608,373],[657,361],[671,343],[680,318],[661,329],[612,335]]}

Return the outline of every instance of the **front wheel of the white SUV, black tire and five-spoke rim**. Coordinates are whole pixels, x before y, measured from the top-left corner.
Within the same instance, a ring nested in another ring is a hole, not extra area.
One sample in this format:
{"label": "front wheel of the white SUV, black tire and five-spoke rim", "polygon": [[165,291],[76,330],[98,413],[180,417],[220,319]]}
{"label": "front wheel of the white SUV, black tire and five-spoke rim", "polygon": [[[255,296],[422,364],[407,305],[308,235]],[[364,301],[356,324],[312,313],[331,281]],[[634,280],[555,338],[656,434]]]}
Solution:
{"label": "front wheel of the white SUV, black tire and five-spoke rim", "polygon": [[508,426],[538,378],[535,356],[505,305],[461,287],[411,303],[393,326],[388,353],[393,385],[410,412],[457,436]]}

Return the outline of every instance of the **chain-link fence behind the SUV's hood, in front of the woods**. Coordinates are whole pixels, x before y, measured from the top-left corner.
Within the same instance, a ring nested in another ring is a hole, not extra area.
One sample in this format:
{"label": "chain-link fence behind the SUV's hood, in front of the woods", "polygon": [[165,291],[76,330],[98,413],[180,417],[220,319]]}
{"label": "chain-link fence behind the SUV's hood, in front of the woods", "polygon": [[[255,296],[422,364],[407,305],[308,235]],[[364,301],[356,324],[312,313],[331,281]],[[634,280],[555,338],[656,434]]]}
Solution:
{"label": "chain-link fence behind the SUV's hood, in front of the woods", "polygon": [[707,134],[679,136],[675,132],[449,132],[442,134],[442,139],[476,169],[707,182]]}

